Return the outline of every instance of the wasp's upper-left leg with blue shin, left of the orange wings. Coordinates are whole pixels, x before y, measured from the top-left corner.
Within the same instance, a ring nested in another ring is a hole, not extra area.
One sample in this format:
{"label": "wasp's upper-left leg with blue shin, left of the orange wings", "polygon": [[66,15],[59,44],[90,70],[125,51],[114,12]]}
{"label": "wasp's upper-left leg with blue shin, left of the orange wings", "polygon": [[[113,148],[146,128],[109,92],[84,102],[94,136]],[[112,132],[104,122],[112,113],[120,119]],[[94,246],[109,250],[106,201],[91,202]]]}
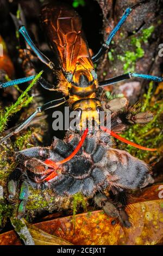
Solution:
{"label": "wasp's upper-left leg with blue shin, left of the orange wings", "polygon": [[36,47],[32,39],[30,38],[30,35],[28,34],[28,31],[26,27],[23,26],[22,21],[18,20],[17,17],[13,14],[10,14],[12,17],[12,20],[15,23],[16,29],[18,29],[18,32],[20,32],[23,36],[23,38],[26,40],[27,44],[32,48],[36,56],[41,60],[41,62],[45,63],[50,69],[54,70],[54,63],[49,60],[48,57],[46,57],[39,48]]}

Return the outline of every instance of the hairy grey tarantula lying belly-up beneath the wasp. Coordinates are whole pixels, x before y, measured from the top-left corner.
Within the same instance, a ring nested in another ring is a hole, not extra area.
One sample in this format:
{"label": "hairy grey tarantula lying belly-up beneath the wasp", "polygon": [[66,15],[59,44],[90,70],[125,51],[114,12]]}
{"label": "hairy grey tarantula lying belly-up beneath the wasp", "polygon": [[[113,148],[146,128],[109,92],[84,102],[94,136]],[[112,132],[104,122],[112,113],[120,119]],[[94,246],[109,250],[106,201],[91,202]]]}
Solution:
{"label": "hairy grey tarantula lying belly-up beneath the wasp", "polygon": [[[151,113],[132,114],[127,106],[123,111],[115,111],[117,102],[121,106],[122,101],[126,105],[124,99],[108,102],[110,111],[114,109],[111,114],[112,131],[122,131],[129,123],[151,120]],[[64,160],[76,149],[80,139],[81,132],[67,132],[64,141],[54,137],[51,147],[33,147],[16,153],[18,166],[9,175],[8,192],[9,200],[12,200],[18,181],[23,180],[18,218],[26,210],[30,185],[39,190],[51,188],[60,197],[71,197],[80,192],[87,198],[94,198],[99,208],[118,218],[124,227],[130,227],[129,217],[124,211],[127,204],[125,191],[153,182],[149,166],[127,151],[112,148],[112,138],[104,131],[90,131],[83,146],[69,161],[56,167],[47,164],[48,161],[56,163]],[[111,191],[112,198],[106,196],[108,191]]]}

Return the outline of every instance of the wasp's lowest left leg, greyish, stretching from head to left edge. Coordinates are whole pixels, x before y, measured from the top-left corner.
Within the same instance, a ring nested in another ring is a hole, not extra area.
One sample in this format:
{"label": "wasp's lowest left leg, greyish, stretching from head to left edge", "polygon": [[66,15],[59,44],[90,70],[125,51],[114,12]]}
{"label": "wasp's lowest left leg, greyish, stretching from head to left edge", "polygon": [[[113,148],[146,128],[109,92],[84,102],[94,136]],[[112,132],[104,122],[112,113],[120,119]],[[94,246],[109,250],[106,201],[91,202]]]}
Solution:
{"label": "wasp's lowest left leg, greyish, stretching from head to left edge", "polygon": [[36,111],[32,115],[30,115],[30,117],[27,118],[20,126],[18,126],[14,131],[10,132],[4,138],[2,138],[1,141],[0,141],[0,144],[2,142],[4,142],[6,139],[10,138],[12,135],[16,135],[18,132],[20,132],[25,127],[27,127],[28,124],[30,123],[30,121],[32,121],[33,118],[35,118],[37,113],[41,113],[41,112],[45,111],[48,108],[58,107],[58,106],[64,104],[66,101],[67,101],[67,98],[66,97],[62,97],[62,98],[57,99],[57,100],[49,101],[49,102],[47,102],[46,104],[44,104],[44,105],[42,105],[40,107],[37,107]]}

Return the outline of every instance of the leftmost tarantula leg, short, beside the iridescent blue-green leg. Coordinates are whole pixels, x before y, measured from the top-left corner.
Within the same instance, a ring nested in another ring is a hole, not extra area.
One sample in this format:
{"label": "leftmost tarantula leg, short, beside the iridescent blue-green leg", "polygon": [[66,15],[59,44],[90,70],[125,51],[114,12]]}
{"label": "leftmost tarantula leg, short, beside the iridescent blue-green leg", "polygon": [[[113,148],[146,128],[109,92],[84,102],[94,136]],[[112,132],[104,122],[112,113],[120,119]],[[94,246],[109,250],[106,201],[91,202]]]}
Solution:
{"label": "leftmost tarantula leg, short, beside the iridescent blue-green leg", "polygon": [[9,193],[8,198],[9,199],[12,199],[16,196],[18,181],[21,179],[21,177],[22,177],[22,169],[20,168],[16,168],[14,172],[12,172],[9,175],[9,181],[8,181],[8,193]]}

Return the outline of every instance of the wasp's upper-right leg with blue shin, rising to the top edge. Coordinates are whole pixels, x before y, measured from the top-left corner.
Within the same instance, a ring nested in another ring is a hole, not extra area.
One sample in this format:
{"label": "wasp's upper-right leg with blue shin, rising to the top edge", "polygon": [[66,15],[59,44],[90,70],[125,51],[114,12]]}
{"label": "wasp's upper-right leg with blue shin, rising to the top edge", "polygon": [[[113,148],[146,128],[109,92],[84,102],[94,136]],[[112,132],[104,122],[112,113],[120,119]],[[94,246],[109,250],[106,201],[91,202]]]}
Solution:
{"label": "wasp's upper-right leg with blue shin, rising to the top edge", "polygon": [[120,28],[124,24],[124,22],[126,22],[127,17],[130,15],[131,11],[133,11],[135,8],[139,7],[141,4],[145,4],[145,3],[148,3],[148,2],[149,2],[149,0],[142,1],[141,3],[136,4],[136,5],[134,5],[131,8],[127,8],[124,11],[124,14],[121,17],[121,20],[118,22],[116,27],[111,31],[111,33],[109,34],[109,36],[106,39],[105,43],[99,49],[98,53],[95,56],[92,57],[93,63],[97,62],[97,60],[99,60],[99,58],[109,49],[109,45],[110,45],[110,42],[111,42],[112,38],[114,38],[116,33],[120,30]]}

